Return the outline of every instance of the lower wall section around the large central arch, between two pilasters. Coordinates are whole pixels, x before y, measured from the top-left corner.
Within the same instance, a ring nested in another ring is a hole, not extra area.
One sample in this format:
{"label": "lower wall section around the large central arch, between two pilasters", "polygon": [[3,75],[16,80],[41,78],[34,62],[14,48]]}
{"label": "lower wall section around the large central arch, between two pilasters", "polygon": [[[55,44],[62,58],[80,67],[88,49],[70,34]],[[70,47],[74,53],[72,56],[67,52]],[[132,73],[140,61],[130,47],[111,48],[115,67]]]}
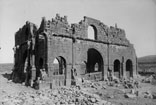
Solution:
{"label": "lower wall section around the large central arch, between two pilasters", "polygon": [[102,43],[95,43],[93,41],[86,41],[86,40],[77,40],[77,43],[75,43],[75,62],[76,62],[76,68],[79,70],[79,74],[84,76],[85,69],[81,66],[85,66],[84,62],[87,62],[87,52],[89,49],[95,49],[97,50],[103,59],[103,74],[102,77],[106,76],[106,70],[107,70],[107,45],[104,45]]}

